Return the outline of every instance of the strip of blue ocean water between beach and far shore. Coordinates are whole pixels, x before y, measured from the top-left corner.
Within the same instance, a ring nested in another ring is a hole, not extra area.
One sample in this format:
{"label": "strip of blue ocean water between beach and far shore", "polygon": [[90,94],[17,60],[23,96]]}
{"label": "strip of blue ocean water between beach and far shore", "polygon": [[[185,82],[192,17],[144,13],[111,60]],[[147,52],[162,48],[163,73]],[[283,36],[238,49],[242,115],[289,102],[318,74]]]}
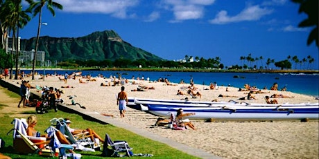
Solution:
{"label": "strip of blue ocean water between beach and far shore", "polygon": [[[36,70],[38,73],[43,74],[44,70]],[[24,70],[25,73],[31,73],[30,70]],[[71,70],[45,70],[45,73],[64,75],[76,72]],[[235,86],[243,88],[244,84],[250,86],[257,86],[257,88],[269,89],[275,82],[278,88],[286,86],[287,91],[293,93],[301,93],[306,95],[319,95],[319,74],[282,74],[282,73],[193,73],[193,72],[155,72],[155,71],[82,71],[82,75],[92,75],[96,77],[99,74],[104,77],[115,75],[118,77],[120,74],[124,78],[131,79],[133,76],[144,79],[149,78],[154,81],[162,78],[169,79],[170,82],[178,83],[181,79],[185,83],[189,83],[191,79],[196,84],[209,85],[210,82],[216,82],[219,86]]]}

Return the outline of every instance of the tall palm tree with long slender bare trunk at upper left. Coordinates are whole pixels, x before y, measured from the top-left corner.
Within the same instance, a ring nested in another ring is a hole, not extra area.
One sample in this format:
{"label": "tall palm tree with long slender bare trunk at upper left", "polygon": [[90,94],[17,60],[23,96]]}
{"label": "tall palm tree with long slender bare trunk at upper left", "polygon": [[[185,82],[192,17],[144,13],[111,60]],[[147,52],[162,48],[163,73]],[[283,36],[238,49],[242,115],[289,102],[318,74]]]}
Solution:
{"label": "tall palm tree with long slender bare trunk at upper left", "polygon": [[32,79],[35,79],[35,59],[37,55],[37,46],[39,45],[39,38],[40,38],[40,30],[41,30],[41,18],[42,18],[42,8],[46,6],[46,8],[51,12],[53,17],[55,17],[55,11],[53,8],[58,8],[60,10],[63,9],[63,6],[60,3],[57,3],[52,0],[40,0],[40,1],[33,1],[33,0],[26,0],[30,3],[30,8],[28,10],[32,10],[33,17],[39,14],[39,24],[37,26],[37,40],[35,41],[35,54],[33,56],[33,66],[32,66]]}

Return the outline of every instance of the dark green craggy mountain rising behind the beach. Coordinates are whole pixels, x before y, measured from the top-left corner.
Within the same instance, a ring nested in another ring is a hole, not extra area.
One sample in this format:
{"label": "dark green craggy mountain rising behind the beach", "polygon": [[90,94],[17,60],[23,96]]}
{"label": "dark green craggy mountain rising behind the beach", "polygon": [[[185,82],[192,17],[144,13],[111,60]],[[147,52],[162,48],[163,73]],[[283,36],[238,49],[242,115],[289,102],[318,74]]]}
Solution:
{"label": "dark green craggy mountain rising behind the beach", "polygon": [[[21,39],[21,50],[35,48],[36,37]],[[93,32],[85,37],[40,37],[37,50],[45,52],[45,59],[49,60],[89,60],[102,61],[104,59],[136,59],[163,60],[152,53],[136,48],[114,32],[105,30]]]}

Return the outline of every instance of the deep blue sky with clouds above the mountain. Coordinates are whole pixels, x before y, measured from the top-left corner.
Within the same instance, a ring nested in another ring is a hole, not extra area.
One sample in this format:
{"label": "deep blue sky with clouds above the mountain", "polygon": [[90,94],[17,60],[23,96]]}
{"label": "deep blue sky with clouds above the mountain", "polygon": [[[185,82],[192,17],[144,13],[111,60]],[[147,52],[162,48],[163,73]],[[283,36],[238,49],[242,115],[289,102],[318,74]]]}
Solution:
{"label": "deep blue sky with clouds above the mountain", "polygon": [[[311,28],[298,28],[307,15],[298,14],[298,4],[289,0],[55,1],[64,9],[56,9],[53,17],[43,8],[42,22],[48,25],[42,26],[41,36],[83,37],[114,30],[132,46],[169,60],[220,57],[230,66],[241,64],[240,57],[248,54],[262,56],[264,63],[311,55],[312,68],[318,69],[318,48],[307,46]],[[37,17],[19,33],[22,39],[36,35]]]}

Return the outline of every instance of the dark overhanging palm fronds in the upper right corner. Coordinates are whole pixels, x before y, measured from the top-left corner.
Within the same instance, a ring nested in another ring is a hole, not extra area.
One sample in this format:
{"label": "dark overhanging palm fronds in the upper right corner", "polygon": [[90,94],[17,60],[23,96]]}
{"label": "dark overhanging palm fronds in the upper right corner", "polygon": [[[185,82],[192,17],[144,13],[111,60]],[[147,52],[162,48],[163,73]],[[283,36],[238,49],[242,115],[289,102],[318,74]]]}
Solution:
{"label": "dark overhanging palm fronds in the upper right corner", "polygon": [[[292,0],[295,3],[299,3],[299,13],[306,13],[307,19],[304,19],[298,27],[312,27],[309,37],[307,39],[307,45],[309,46],[313,41],[316,42],[316,46],[319,48],[318,40],[318,0]],[[313,27],[315,26],[315,27]]]}

